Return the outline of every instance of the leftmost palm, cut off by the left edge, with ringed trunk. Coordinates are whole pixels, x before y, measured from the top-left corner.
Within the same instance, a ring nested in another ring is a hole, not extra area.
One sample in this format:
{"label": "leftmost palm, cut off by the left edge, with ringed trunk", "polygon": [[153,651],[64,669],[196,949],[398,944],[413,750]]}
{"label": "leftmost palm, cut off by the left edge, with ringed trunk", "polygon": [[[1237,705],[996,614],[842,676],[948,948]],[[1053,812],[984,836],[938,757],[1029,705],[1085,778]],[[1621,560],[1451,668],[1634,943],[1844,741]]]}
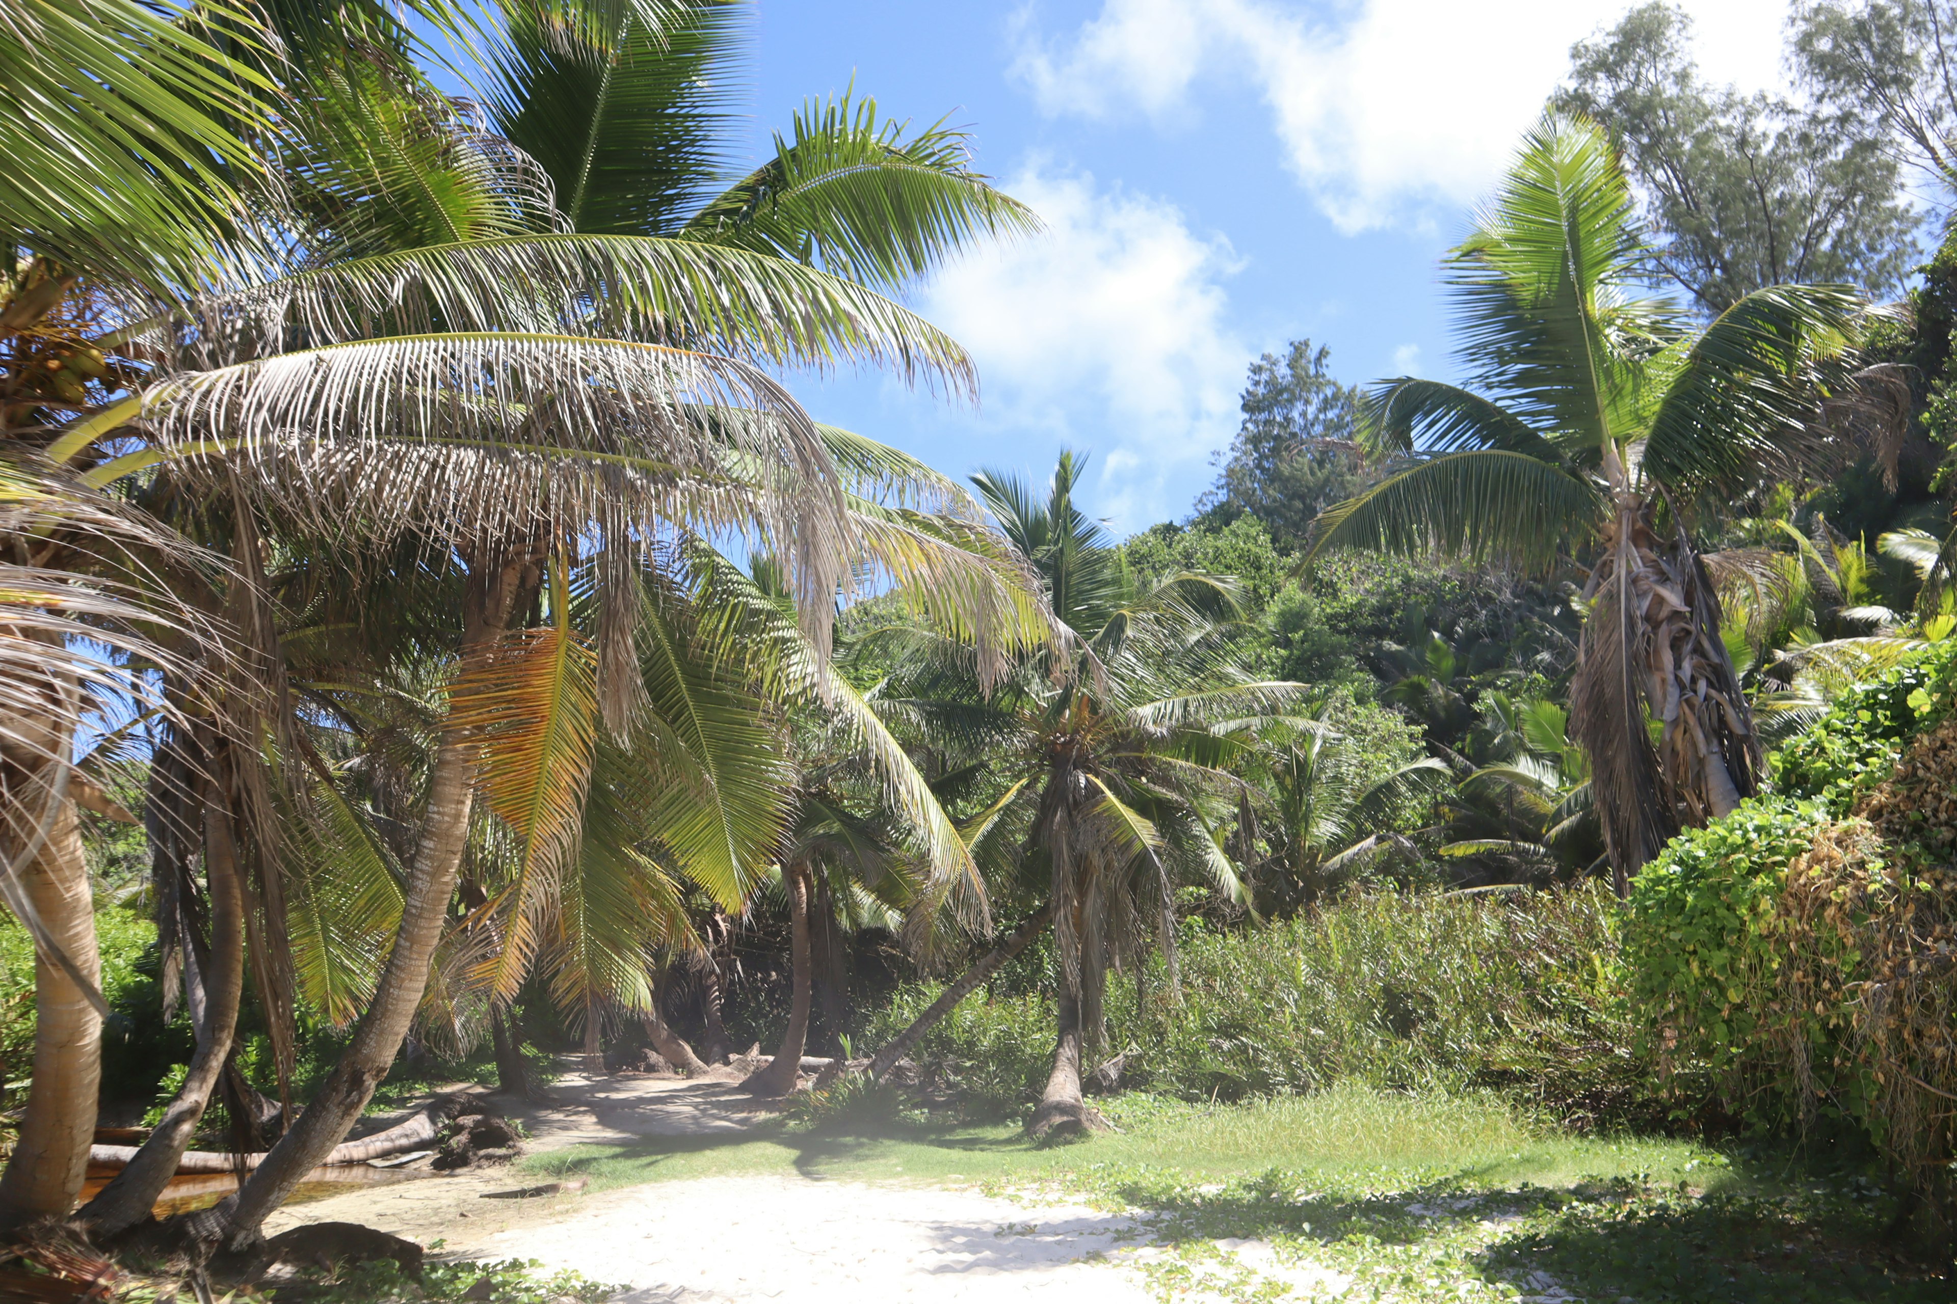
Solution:
{"label": "leftmost palm, cut off by the left edge, with ringed trunk", "polygon": [[[67,1214],[94,1132],[106,1007],[76,802],[106,807],[76,764],[76,727],[104,700],[174,714],[82,649],[108,643],[192,678],[221,643],[174,592],[186,571],[209,577],[221,561],[41,450],[127,383],[98,338],[117,295],[180,293],[241,250],[245,196],[262,174],[243,137],[266,121],[272,92],[209,25],[168,6],[20,0],[4,22],[0,895],[35,938],[37,1021],[0,1226]],[[213,870],[227,899],[221,880]]]}

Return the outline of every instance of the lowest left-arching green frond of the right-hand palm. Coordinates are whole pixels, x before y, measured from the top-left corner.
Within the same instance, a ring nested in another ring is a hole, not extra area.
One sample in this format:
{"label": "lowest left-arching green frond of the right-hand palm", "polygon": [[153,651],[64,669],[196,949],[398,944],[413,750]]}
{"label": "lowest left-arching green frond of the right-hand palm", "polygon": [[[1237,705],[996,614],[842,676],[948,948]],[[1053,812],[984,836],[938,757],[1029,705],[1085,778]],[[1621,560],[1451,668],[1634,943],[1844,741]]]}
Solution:
{"label": "lowest left-arching green frond of the right-hand palm", "polygon": [[1525,454],[1442,454],[1389,475],[1325,510],[1305,553],[1378,547],[1401,555],[1466,555],[1550,563],[1568,540],[1595,530],[1601,495]]}

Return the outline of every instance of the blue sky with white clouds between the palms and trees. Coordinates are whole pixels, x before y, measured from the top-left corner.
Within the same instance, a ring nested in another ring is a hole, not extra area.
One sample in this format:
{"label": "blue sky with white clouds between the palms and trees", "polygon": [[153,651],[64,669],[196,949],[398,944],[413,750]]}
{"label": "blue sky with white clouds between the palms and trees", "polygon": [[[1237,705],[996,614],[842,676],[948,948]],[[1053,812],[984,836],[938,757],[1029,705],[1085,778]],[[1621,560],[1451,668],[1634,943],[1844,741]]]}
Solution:
{"label": "blue sky with white clouds between the palms and trees", "polygon": [[[1311,336],[1346,381],[1450,369],[1440,252],[1573,39],[1628,0],[759,0],[753,149],[806,96],[971,127],[1045,235],[912,301],[977,358],[978,409],[877,375],[808,409],[965,475],[1090,450],[1119,532],[1188,514],[1251,360]],[[1689,0],[1705,74],[1779,80],[1785,0]]]}

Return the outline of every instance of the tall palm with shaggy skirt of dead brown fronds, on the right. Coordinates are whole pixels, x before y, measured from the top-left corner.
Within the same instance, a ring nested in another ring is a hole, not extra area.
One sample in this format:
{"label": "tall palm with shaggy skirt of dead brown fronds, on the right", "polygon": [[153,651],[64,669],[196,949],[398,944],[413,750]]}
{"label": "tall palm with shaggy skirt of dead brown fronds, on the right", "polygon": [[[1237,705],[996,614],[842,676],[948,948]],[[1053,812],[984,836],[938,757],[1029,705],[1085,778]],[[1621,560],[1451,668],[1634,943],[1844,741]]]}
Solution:
{"label": "tall palm with shaggy skirt of dead brown fronds, on the right", "polygon": [[1620,891],[1681,825],[1757,788],[1759,741],[1685,522],[1828,454],[1865,311],[1845,287],[1773,285],[1693,330],[1630,293],[1638,250],[1605,135],[1544,117],[1448,260],[1468,387],[1374,389],[1370,448],[1407,465],[1321,516],[1309,551],[1593,557],[1571,719]]}

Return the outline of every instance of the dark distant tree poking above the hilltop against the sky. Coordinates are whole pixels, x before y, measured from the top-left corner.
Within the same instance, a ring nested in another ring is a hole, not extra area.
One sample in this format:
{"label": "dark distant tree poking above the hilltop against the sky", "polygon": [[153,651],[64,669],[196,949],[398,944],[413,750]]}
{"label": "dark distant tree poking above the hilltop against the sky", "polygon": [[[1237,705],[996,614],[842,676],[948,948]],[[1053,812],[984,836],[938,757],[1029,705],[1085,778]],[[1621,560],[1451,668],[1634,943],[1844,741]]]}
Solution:
{"label": "dark distant tree poking above the hilltop against the sky", "polygon": [[1329,360],[1323,344],[1292,340],[1284,358],[1264,354],[1251,364],[1243,424],[1227,457],[1217,454],[1215,485],[1196,500],[1200,524],[1256,516],[1272,543],[1290,551],[1319,512],[1366,483],[1354,444],[1358,389],[1341,385]]}

